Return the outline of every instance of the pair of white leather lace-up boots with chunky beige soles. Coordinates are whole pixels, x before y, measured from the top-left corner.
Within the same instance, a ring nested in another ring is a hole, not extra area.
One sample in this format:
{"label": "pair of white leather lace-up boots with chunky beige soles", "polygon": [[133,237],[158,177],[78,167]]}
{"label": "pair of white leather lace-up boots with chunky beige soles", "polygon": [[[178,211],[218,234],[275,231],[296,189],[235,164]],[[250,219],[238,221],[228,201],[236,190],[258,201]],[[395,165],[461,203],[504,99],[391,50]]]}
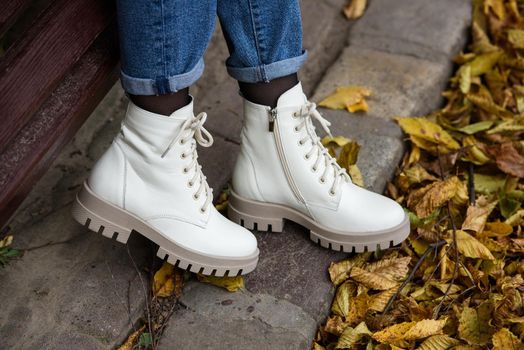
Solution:
{"label": "pair of white leather lace-up boots with chunky beige soles", "polygon": [[329,131],[300,84],[274,109],[244,101],[228,208],[234,223],[213,206],[197,161],[197,143],[213,143],[203,126],[206,114],[195,116],[192,102],[169,117],[130,102],[120,133],[78,194],[73,216],[123,243],[135,230],[159,245],[159,257],[216,276],[255,268],[257,241],[242,226],[281,232],[284,219],[291,220],[323,247],[345,252],[400,243],[409,233],[402,208],[354,185],[322,146],[312,119]]}

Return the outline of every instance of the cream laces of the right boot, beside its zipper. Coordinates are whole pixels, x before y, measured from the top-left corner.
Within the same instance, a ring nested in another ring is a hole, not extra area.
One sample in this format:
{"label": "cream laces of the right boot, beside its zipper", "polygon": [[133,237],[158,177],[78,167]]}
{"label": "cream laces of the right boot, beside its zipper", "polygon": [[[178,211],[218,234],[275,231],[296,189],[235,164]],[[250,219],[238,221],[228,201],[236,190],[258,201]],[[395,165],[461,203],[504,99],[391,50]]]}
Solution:
{"label": "cream laces of the right boot, beside its zipper", "polygon": [[306,102],[300,107],[298,111],[293,113],[294,118],[300,119],[300,124],[295,127],[295,131],[299,132],[303,129],[306,130],[306,135],[299,140],[300,145],[304,145],[308,140],[311,141],[311,149],[305,154],[306,159],[314,157],[315,163],[311,167],[313,172],[316,172],[321,163],[324,163],[324,172],[320,176],[319,181],[321,183],[326,182],[326,177],[330,170],[333,171],[334,179],[329,190],[329,194],[334,196],[342,182],[351,181],[351,178],[346,172],[346,169],[338,165],[337,160],[329,154],[329,151],[324,147],[320,137],[317,136],[315,126],[312,120],[315,119],[322,126],[322,129],[331,135],[329,126],[331,123],[326,120],[317,110],[317,105],[313,102]]}

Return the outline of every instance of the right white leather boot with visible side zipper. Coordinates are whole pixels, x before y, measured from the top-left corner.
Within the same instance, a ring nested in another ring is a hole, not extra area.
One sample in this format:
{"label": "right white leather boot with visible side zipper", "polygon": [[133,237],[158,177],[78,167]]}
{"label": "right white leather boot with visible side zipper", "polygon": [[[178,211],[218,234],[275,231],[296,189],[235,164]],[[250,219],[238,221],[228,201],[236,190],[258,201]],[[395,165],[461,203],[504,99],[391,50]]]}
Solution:
{"label": "right white leather boot with visible side zipper", "polygon": [[310,230],[323,247],[344,252],[384,249],[409,234],[395,201],[351,182],[316,135],[316,119],[300,83],[277,107],[244,101],[242,146],[232,180],[229,217],[255,230],[282,231],[283,220]]}

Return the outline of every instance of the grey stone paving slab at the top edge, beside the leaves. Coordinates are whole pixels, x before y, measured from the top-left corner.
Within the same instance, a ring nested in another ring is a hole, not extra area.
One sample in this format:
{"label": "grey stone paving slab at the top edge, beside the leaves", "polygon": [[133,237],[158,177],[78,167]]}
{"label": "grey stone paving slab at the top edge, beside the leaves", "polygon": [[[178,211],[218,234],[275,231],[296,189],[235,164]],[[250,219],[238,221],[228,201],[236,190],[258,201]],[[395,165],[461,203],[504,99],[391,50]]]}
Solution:
{"label": "grey stone paving slab at the top edge, beside the leaves", "polygon": [[450,64],[464,47],[469,0],[372,0],[351,30],[351,46]]}

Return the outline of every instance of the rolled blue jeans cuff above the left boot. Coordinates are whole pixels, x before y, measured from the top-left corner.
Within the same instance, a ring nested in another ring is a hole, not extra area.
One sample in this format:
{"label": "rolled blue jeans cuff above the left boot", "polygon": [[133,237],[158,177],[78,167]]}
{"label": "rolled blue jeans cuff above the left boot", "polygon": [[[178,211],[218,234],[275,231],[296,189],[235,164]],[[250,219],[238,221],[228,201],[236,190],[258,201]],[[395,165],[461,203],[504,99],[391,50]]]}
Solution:
{"label": "rolled blue jeans cuff above the left boot", "polygon": [[124,91],[132,95],[165,95],[193,85],[204,72],[201,58],[189,72],[155,79],[135,78],[120,71],[120,81]]}

